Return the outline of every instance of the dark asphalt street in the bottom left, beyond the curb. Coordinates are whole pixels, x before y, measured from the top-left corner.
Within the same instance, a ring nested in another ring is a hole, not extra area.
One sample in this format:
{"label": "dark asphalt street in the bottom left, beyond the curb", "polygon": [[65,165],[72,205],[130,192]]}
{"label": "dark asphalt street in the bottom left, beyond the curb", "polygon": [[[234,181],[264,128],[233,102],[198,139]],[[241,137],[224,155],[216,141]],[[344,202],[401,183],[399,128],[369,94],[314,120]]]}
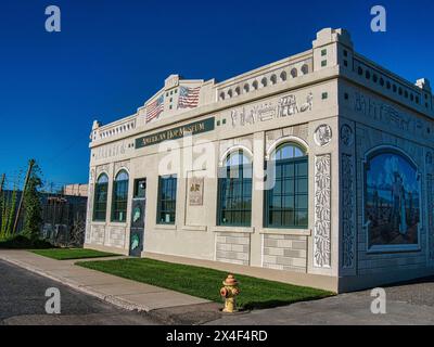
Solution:
{"label": "dark asphalt street in the bottom left, beyond the curb", "polygon": [[[48,314],[48,288],[59,288],[61,313]],[[59,282],[0,260],[0,325],[154,325],[146,313],[130,312]]]}

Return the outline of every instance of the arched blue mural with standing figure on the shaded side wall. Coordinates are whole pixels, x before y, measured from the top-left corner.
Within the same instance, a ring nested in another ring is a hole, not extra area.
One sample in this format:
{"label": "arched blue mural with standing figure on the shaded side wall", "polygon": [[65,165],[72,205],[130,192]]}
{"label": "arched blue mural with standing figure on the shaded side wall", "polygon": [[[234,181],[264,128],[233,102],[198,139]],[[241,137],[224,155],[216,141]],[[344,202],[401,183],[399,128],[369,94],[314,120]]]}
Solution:
{"label": "arched blue mural with standing figure on the shaded side wall", "polygon": [[365,222],[370,249],[419,244],[420,176],[393,151],[368,157],[365,172]]}

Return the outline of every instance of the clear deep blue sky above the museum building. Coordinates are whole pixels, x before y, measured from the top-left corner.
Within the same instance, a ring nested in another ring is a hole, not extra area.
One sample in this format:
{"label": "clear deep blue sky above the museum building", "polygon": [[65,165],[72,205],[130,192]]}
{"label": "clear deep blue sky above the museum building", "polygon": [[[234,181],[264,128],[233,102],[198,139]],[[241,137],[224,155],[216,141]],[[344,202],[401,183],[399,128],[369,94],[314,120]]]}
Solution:
{"label": "clear deep blue sky above the museum building", "polygon": [[[44,9],[62,33],[44,30]],[[370,9],[387,10],[387,33]],[[164,79],[224,80],[311,47],[317,30],[344,27],[358,52],[413,81],[434,82],[429,0],[0,2],[0,174],[35,157],[47,182],[88,179],[92,120],[131,115]]]}

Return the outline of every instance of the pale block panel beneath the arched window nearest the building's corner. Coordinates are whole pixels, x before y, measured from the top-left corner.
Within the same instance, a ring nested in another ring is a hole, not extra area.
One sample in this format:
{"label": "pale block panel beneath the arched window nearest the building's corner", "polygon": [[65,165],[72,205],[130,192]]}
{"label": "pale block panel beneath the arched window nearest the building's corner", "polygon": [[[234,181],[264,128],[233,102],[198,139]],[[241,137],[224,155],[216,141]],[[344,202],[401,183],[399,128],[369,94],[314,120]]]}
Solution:
{"label": "pale block panel beneath the arched window nearest the building's corner", "polygon": [[263,267],[306,273],[307,237],[265,234]]}

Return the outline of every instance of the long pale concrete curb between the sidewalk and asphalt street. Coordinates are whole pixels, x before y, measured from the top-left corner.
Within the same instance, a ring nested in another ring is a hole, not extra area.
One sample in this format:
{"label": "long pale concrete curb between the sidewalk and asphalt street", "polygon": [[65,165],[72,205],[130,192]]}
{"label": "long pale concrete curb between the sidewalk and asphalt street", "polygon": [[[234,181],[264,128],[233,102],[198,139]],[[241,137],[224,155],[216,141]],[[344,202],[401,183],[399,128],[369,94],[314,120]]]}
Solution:
{"label": "long pale concrete curb between the sidewalk and asphalt street", "polygon": [[55,282],[62,283],[64,285],[67,285],[68,287],[71,287],[71,288],[73,288],[73,290],[75,290],[77,292],[80,292],[80,293],[97,297],[100,300],[103,300],[105,303],[112,304],[112,305],[117,306],[117,307],[119,307],[122,309],[125,309],[127,311],[138,311],[138,312],[143,312],[144,311],[146,313],[150,313],[152,311],[149,307],[146,307],[144,305],[138,305],[138,304],[135,304],[135,303],[129,301],[129,300],[119,299],[119,298],[117,298],[117,297],[115,297],[113,295],[102,294],[102,293],[100,293],[98,291],[89,288],[88,286],[79,285],[79,284],[75,283],[74,281],[67,280],[65,278],[52,275],[52,274],[50,274],[50,273],[48,273],[48,272],[46,272],[43,270],[40,270],[40,269],[35,268],[33,266],[29,266],[28,264],[22,262],[20,260],[9,259],[9,258],[4,258],[4,257],[0,257],[0,259],[4,260],[7,262],[13,264],[13,265],[15,265],[15,266],[17,266],[17,267],[20,267],[22,269],[25,269],[27,271],[30,271],[30,272],[37,273],[39,275],[42,275],[42,277],[44,277],[47,279],[50,279],[52,281],[55,281]]}

